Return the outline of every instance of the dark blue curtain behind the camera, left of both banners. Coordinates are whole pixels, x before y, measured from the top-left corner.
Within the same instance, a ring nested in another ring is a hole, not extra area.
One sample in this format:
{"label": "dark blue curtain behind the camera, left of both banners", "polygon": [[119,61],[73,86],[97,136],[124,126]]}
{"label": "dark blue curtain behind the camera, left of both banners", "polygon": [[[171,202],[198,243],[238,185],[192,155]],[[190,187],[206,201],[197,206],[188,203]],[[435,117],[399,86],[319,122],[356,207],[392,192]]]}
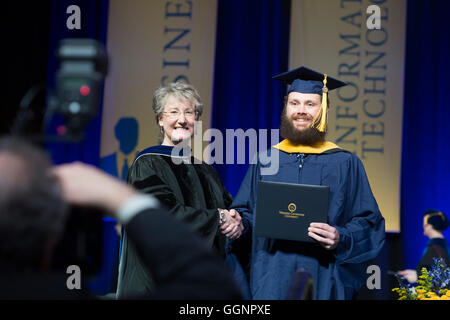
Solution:
{"label": "dark blue curtain behind the camera, left of both banners", "polygon": [[[77,5],[81,12],[81,29],[69,30],[66,21],[70,14],[66,12],[70,5]],[[49,60],[47,72],[47,87],[51,91],[55,87],[55,73],[59,62],[54,53],[59,41],[65,38],[96,39],[106,46],[107,19],[109,0],[53,0],[51,2],[51,25],[49,41]],[[103,97],[103,93],[100,94]],[[85,130],[85,137],[79,143],[47,143],[52,161],[55,164],[82,161],[94,166],[100,165],[100,139],[102,124],[102,104],[99,111]],[[47,130],[55,134],[58,125],[63,124],[62,118],[56,116]],[[106,294],[114,290],[114,280],[117,268],[118,236],[115,232],[115,221],[103,219],[102,268],[98,276],[89,285],[95,294]]]}

